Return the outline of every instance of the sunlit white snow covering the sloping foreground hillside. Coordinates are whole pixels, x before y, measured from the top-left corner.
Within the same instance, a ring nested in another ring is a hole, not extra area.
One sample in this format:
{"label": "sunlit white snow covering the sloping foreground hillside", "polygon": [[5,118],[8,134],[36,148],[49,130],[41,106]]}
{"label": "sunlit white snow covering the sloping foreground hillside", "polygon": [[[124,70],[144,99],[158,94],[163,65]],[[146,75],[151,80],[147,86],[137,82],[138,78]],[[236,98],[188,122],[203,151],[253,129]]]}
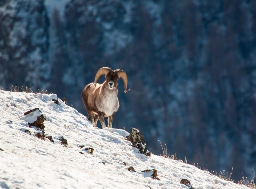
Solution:
{"label": "sunlit white snow covering the sloping foreground hillside", "polygon": [[[125,140],[125,130],[95,128],[77,110],[52,99],[57,96],[0,90],[0,188],[187,189],[180,184],[183,178],[196,189],[247,188],[193,165],[140,154]],[[36,128],[19,118],[34,108],[46,116],[45,135],[52,136],[54,143],[35,137]],[[62,137],[67,146],[61,144]],[[93,148],[93,153],[86,148]],[[130,166],[136,172],[128,171]],[[156,169],[160,181],[152,179],[152,171],[141,172],[147,169]]]}

